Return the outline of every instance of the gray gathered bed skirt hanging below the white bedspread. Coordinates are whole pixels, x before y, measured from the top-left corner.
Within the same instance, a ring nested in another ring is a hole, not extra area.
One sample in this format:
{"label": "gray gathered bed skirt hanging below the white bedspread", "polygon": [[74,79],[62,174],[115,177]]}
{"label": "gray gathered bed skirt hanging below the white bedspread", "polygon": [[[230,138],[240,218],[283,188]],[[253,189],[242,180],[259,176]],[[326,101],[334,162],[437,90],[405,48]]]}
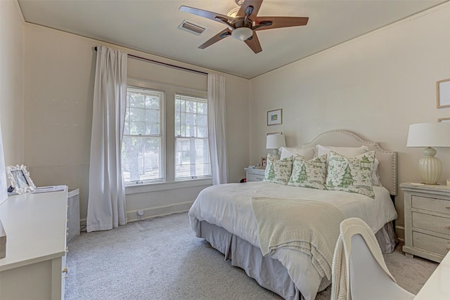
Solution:
{"label": "gray gathered bed skirt hanging below the white bedspread", "polygon": [[[211,246],[231,260],[232,266],[243,268],[250,278],[255,279],[262,287],[279,294],[284,299],[302,299],[299,289],[288,275],[288,270],[276,259],[263,256],[261,249],[250,242],[229,233],[224,228],[200,221],[196,228],[196,236],[210,242]],[[392,222],[375,234],[383,253],[391,253],[397,244]],[[331,280],[323,278],[319,292],[326,289]]]}

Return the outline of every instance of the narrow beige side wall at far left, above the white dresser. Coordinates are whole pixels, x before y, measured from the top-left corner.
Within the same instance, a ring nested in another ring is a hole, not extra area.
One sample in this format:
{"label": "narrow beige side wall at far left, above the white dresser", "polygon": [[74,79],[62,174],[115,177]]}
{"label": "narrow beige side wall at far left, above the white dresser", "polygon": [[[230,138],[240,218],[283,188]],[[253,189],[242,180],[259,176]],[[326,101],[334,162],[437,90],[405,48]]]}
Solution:
{"label": "narrow beige side wall at far left, above the white dresser", "polygon": [[0,1],[0,121],[5,164],[23,163],[24,20],[15,1]]}

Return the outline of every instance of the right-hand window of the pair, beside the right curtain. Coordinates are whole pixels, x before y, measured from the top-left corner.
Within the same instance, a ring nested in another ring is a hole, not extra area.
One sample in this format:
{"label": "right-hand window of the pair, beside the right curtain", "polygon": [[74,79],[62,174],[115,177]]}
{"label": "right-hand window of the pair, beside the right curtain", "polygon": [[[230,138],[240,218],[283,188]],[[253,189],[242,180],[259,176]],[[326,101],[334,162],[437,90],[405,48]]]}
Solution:
{"label": "right-hand window of the pair, beside the right curtain", "polygon": [[211,176],[207,99],[175,94],[175,180]]}

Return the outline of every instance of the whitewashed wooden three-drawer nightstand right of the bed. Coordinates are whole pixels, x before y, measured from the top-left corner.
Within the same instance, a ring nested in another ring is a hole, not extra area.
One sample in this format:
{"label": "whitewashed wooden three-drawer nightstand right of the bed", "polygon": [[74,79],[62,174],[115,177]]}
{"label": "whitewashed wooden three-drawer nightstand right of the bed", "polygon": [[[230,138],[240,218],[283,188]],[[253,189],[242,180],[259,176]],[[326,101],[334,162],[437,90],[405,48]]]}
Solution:
{"label": "whitewashed wooden three-drawer nightstand right of the bed", "polygon": [[440,262],[450,250],[450,186],[401,183],[405,255]]}

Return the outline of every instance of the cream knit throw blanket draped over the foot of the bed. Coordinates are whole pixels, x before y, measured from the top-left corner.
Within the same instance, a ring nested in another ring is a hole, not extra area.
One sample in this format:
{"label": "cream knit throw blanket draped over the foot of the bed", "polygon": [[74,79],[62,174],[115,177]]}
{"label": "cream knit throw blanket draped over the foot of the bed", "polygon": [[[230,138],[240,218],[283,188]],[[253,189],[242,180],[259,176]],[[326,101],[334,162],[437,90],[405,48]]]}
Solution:
{"label": "cream knit throw blanket draped over the foot of the bed", "polygon": [[311,200],[252,198],[264,256],[276,249],[295,249],[311,257],[317,272],[331,278],[333,251],[344,214],[331,204]]}

